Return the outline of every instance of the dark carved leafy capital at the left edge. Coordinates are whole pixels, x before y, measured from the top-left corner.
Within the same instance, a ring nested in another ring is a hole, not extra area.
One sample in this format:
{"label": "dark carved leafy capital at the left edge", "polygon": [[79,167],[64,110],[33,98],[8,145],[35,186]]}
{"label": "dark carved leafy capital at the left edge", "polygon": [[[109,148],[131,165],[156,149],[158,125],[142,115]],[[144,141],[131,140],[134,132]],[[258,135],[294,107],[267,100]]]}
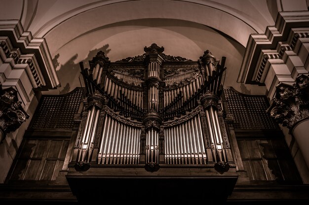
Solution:
{"label": "dark carved leafy capital at the left edge", "polygon": [[29,114],[18,101],[17,90],[13,87],[2,89],[0,84],[0,141],[6,134],[16,131],[28,118]]}

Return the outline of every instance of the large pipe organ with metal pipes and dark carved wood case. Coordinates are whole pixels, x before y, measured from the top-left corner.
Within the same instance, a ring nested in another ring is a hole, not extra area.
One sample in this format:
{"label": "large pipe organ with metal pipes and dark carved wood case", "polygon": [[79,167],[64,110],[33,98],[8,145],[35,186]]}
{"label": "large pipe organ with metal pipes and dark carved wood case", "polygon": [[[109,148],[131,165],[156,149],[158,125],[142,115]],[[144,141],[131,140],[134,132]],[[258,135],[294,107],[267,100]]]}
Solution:
{"label": "large pipe organ with metal pipes and dark carved wood case", "polygon": [[91,165],[212,166],[233,162],[221,106],[225,57],[198,61],[152,44],[140,56],[110,62],[100,51],[80,63],[87,96],[72,157]]}

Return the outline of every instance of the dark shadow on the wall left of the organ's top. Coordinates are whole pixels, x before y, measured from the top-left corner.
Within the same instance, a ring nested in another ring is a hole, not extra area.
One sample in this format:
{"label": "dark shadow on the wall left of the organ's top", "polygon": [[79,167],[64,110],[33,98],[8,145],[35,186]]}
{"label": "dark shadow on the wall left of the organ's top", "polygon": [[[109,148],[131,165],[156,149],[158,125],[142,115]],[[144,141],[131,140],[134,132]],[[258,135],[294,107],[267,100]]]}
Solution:
{"label": "dark shadow on the wall left of the organ's top", "polygon": [[[87,58],[82,60],[84,62],[84,67],[89,68],[89,61],[92,60],[92,58],[95,57],[99,51],[103,51],[105,55],[107,55],[111,51],[111,49],[109,49],[108,47],[109,44],[105,44],[101,48],[89,51]],[[77,60],[77,56],[78,54],[75,54],[67,63],[61,65],[60,69],[57,70],[57,75],[61,84],[65,83],[64,87],[62,86],[61,88],[59,88],[62,89],[59,91],[59,95],[69,93],[71,91],[70,89],[73,82],[75,82],[74,84],[80,84],[79,80],[82,81],[82,77],[78,74],[80,73],[79,62],[74,63]],[[60,54],[58,53],[52,60],[55,68],[60,65],[58,62],[59,57]],[[77,76],[79,76],[78,78],[80,79],[77,79]]]}

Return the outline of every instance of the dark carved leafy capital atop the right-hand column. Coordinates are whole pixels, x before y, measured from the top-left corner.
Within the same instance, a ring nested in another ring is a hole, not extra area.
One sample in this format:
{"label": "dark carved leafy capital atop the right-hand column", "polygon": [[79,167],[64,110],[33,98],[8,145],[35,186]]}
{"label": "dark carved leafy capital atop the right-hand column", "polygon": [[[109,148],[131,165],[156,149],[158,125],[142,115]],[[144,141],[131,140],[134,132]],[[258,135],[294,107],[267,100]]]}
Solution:
{"label": "dark carved leafy capital atop the right-hand column", "polygon": [[271,101],[268,113],[291,131],[298,122],[309,118],[309,75],[300,74],[293,85],[279,83]]}

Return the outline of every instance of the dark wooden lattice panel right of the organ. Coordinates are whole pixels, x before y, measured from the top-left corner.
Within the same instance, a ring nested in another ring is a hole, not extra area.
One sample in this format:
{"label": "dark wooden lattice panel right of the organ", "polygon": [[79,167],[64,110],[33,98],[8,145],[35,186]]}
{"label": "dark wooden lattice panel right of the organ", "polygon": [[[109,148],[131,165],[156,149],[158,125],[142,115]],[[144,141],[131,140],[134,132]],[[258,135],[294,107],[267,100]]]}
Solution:
{"label": "dark wooden lattice panel right of the organ", "polygon": [[265,96],[248,96],[224,88],[229,111],[233,114],[235,129],[275,130],[276,124],[266,112],[270,106]]}

